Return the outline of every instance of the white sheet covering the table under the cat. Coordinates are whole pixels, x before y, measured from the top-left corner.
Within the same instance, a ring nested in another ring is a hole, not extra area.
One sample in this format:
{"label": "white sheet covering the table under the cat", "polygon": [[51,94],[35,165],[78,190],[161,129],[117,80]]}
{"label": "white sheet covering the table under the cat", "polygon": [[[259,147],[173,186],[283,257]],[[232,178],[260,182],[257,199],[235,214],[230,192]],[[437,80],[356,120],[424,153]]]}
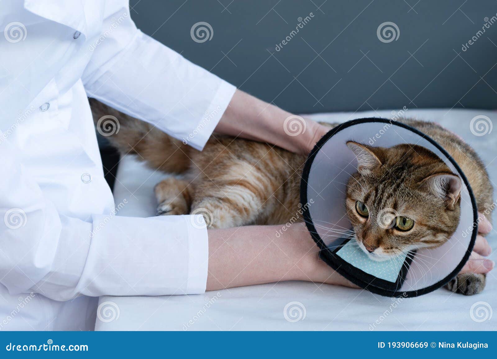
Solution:
{"label": "white sheet covering the table under the cat", "polygon": [[[470,121],[477,115],[486,115],[494,123],[497,120],[496,111],[406,111],[406,116],[436,121],[463,137],[488,166],[497,189],[497,130],[485,136],[473,135]],[[361,117],[391,118],[392,113],[368,111],[310,117],[343,122]],[[119,165],[114,197],[116,204],[125,198],[128,204],[119,215],[154,215],[152,188],[165,176],[138,163],[133,156],[125,156]],[[497,227],[496,219],[497,211]],[[494,249],[490,258],[495,261],[497,231],[493,230],[488,239]],[[487,276],[483,293],[469,297],[441,288],[418,298],[392,300],[366,290],[286,282],[204,295],[102,297],[100,303],[112,302],[119,308],[119,316],[109,322],[97,319],[95,330],[497,330],[497,314],[490,317],[492,310],[497,309],[496,298],[497,270]],[[284,314],[285,306],[289,315]],[[300,316],[301,320],[292,321],[292,307],[295,318]],[[485,317],[486,320],[479,320]]]}

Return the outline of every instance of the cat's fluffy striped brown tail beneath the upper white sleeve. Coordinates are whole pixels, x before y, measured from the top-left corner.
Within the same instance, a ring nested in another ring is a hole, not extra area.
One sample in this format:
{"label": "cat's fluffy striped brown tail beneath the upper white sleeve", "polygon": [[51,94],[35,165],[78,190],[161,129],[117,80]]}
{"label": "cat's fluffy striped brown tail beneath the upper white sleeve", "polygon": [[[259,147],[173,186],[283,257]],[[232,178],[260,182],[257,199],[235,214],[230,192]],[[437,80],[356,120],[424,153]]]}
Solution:
{"label": "cat's fluffy striped brown tail beneath the upper white sleeve", "polygon": [[170,173],[182,173],[190,165],[192,147],[173,139],[153,125],[125,115],[100,101],[90,99],[97,131],[121,155],[138,154],[149,166]]}

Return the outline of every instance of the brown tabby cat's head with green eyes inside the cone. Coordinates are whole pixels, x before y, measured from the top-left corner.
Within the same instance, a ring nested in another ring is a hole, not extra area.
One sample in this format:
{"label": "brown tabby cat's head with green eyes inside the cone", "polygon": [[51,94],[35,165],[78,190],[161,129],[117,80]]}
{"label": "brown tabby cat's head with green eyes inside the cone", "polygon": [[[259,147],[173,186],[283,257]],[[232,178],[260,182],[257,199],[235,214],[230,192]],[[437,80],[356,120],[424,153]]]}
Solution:
{"label": "brown tabby cat's head with green eyes inside the cone", "polygon": [[358,170],[345,206],[359,247],[387,260],[445,243],[459,223],[461,180],[433,152],[416,144],[373,147],[353,141]]}

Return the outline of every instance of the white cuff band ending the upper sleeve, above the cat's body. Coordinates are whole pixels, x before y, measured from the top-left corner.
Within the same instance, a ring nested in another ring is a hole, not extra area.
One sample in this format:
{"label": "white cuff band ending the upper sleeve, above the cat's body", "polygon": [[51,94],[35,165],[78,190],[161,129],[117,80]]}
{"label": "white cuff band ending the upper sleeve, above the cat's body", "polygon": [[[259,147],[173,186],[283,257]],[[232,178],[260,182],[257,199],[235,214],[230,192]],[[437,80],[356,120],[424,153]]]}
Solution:
{"label": "white cuff band ending the upper sleeve, above the cat's body", "polygon": [[205,110],[204,115],[197,126],[187,137],[183,138],[184,144],[189,144],[199,151],[204,148],[217,124],[221,120],[221,117],[228,108],[236,89],[237,87],[231,83],[224,80],[220,81],[214,98],[209,107]]}

